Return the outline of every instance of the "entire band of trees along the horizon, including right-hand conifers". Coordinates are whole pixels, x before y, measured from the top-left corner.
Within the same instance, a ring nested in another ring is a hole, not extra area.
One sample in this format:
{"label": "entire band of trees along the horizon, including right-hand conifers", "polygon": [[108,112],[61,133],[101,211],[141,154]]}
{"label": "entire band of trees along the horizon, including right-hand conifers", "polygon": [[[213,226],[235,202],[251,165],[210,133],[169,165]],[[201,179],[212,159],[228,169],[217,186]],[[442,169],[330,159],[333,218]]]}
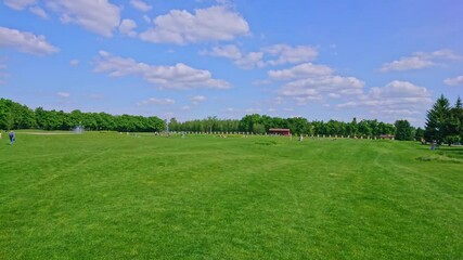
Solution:
{"label": "entire band of trees along the horizon, including right-hand conifers", "polygon": [[[207,117],[189,121],[171,118],[168,122],[172,132],[245,132],[263,134],[270,128],[287,128],[293,134],[378,138],[384,134],[395,135],[396,140],[422,140],[439,143],[456,143],[463,140],[463,108],[460,98],[454,107],[440,96],[427,113],[426,128],[414,128],[407,120],[397,120],[394,125],[377,120],[350,122],[329,120],[309,121],[303,117],[280,118],[266,115],[246,115],[239,119],[219,119]],[[42,129],[73,130],[77,126],[91,131],[120,132],[160,132],[167,123],[158,117],[132,115],[110,115],[106,113],[83,113],[78,109],[70,113],[63,110],[35,110],[11,100],[0,99],[0,129]]]}

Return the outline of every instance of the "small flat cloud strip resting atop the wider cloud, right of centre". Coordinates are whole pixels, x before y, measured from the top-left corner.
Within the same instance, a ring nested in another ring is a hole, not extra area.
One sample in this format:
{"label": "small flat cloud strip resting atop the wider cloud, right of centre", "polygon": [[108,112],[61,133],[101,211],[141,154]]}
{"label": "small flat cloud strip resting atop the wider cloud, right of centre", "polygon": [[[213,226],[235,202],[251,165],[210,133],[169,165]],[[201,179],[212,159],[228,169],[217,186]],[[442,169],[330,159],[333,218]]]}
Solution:
{"label": "small flat cloud strip resting atop the wider cloud, right of centre", "polygon": [[290,69],[268,72],[269,78],[279,80],[327,76],[331,74],[333,74],[333,69],[331,67],[325,65],[314,65],[311,63],[304,63]]}

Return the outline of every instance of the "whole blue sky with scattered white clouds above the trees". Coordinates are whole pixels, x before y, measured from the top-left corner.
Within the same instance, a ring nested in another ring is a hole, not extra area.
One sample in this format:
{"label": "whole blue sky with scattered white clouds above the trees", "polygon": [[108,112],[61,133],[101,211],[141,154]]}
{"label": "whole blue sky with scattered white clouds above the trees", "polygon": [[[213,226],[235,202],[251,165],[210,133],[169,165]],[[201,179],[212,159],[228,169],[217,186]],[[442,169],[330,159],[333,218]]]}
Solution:
{"label": "whole blue sky with scattered white clouds above the trees", "polygon": [[3,0],[0,96],[176,117],[408,119],[463,96],[463,1]]}

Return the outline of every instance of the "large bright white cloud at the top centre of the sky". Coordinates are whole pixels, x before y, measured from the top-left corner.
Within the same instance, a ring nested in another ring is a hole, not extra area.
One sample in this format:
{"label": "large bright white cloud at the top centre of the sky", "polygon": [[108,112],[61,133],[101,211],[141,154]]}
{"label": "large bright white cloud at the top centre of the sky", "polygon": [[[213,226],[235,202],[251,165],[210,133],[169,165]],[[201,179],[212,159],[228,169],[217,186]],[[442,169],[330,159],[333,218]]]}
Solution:
{"label": "large bright white cloud at the top centre of the sky", "polygon": [[189,42],[233,40],[236,36],[249,34],[247,22],[226,6],[197,9],[194,14],[183,10],[171,10],[157,16],[154,27],[140,34],[150,42]]}

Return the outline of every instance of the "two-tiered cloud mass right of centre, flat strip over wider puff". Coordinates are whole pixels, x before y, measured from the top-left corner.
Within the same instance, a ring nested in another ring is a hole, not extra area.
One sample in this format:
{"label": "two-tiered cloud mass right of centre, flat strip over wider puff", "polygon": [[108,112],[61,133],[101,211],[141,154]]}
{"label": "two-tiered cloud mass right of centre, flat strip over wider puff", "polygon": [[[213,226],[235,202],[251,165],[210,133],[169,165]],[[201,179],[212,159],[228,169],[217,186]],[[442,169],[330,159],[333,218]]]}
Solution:
{"label": "two-tiered cloud mass right of centre, flat strip over wider puff", "polygon": [[294,99],[298,104],[310,100],[322,100],[358,95],[362,93],[364,82],[355,77],[343,77],[325,65],[305,63],[288,69],[268,72],[271,80],[284,80],[279,92],[280,98]]}

